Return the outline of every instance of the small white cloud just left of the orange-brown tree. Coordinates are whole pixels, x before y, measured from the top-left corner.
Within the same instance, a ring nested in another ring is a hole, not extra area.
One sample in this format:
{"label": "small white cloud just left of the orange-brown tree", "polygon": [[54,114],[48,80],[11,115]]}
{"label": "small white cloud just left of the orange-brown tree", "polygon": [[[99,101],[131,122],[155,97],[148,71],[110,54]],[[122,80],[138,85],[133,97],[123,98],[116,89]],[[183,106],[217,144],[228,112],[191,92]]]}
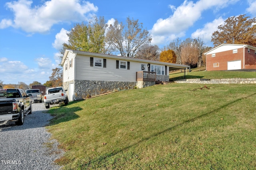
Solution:
{"label": "small white cloud just left of the orange-brown tree", "polygon": [[222,17],[220,17],[218,19],[215,19],[212,22],[208,22],[204,25],[203,28],[197,29],[194,33],[192,33],[191,37],[192,38],[201,37],[201,38],[204,38],[205,42],[210,42],[212,39],[212,33],[214,31],[217,31],[218,26],[223,25],[224,21],[225,20]]}

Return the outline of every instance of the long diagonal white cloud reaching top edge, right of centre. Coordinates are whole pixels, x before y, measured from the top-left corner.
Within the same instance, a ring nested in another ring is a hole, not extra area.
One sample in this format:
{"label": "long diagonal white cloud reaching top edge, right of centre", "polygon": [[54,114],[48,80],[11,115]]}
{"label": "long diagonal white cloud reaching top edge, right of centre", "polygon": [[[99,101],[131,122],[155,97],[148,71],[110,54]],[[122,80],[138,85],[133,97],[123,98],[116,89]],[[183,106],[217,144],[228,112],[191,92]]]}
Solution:
{"label": "long diagonal white cloud reaching top edge, right of centre", "polygon": [[[174,11],[173,15],[166,19],[158,19],[151,30],[152,44],[164,44],[176,37],[185,35],[187,29],[200,20],[202,12],[214,8],[218,10],[224,8],[238,0],[185,0],[178,8],[170,5],[169,8]],[[158,39],[158,37],[165,37]]]}

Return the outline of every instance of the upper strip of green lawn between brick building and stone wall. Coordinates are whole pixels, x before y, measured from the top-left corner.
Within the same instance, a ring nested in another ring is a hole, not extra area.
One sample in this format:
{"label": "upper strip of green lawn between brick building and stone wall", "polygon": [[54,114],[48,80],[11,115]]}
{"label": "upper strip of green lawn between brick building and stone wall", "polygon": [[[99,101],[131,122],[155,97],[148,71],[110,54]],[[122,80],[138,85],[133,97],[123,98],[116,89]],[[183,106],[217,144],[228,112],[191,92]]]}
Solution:
{"label": "upper strip of green lawn between brick building and stone wall", "polygon": [[[198,70],[198,69],[195,69]],[[190,78],[206,78],[206,79],[220,79],[220,78],[256,78],[256,72],[244,71],[194,71],[187,72],[186,79]],[[184,72],[175,72],[170,74],[170,80],[184,79]]]}

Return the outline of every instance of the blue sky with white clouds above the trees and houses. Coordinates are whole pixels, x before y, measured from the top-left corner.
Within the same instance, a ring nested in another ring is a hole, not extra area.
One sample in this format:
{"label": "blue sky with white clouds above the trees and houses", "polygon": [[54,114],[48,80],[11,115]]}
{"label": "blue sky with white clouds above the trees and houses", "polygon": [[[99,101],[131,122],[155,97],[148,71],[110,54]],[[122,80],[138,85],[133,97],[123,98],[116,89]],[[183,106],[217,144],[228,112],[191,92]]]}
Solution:
{"label": "blue sky with white clouds above the trees and houses", "polygon": [[104,16],[107,23],[138,19],[160,48],[179,37],[211,35],[230,16],[256,17],[255,0],[0,0],[0,80],[49,80],[74,23]]}

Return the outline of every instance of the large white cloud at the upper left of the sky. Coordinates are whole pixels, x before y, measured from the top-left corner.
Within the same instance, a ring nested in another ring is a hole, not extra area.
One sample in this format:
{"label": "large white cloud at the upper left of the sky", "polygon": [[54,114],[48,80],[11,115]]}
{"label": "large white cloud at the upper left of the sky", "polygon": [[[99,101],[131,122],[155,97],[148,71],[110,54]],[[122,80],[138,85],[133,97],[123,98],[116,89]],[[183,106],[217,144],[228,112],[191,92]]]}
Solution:
{"label": "large white cloud at the upper left of the sky", "polygon": [[32,0],[7,2],[8,9],[14,12],[14,20],[4,18],[0,28],[12,26],[28,33],[45,33],[56,23],[88,20],[98,11],[94,4],[80,0],[50,0],[43,5],[32,7]]}

